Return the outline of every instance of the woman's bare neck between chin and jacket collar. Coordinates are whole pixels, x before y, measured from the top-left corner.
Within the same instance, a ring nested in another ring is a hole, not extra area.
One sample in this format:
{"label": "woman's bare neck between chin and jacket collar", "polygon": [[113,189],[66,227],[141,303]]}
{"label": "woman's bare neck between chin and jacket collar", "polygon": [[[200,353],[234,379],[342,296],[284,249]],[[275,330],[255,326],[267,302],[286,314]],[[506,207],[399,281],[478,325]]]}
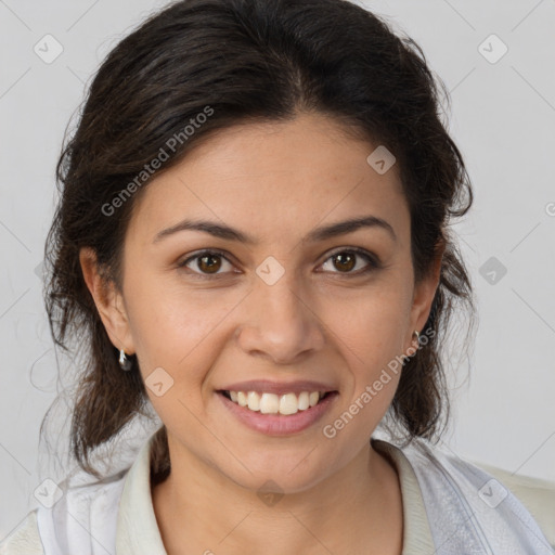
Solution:
{"label": "woman's bare neck between chin and jacket collar", "polygon": [[170,460],[152,492],[168,555],[401,553],[397,473],[370,442],[339,472],[287,494],[246,489],[175,443]]}

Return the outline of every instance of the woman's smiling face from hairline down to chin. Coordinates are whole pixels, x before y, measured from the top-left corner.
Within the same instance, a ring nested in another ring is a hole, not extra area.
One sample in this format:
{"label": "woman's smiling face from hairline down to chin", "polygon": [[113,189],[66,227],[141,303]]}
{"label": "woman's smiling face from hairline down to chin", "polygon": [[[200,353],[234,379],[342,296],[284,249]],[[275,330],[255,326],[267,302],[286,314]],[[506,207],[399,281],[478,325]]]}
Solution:
{"label": "woman's smiling face from hairline down to chin", "polygon": [[138,356],[172,465],[300,491],[367,449],[437,286],[415,288],[409,208],[397,167],[366,162],[377,146],[321,115],[238,126],[147,185],[103,319]]}

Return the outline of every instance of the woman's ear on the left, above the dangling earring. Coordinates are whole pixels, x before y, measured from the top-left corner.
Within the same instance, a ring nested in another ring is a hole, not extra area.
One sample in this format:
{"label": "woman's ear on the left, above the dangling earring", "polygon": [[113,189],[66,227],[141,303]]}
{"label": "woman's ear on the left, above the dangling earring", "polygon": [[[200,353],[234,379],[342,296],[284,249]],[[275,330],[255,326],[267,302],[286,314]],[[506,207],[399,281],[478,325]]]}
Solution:
{"label": "woman's ear on the left, above the dangling earring", "polygon": [[89,288],[96,310],[109,340],[116,349],[124,349],[127,354],[134,352],[128,317],[124,306],[124,298],[116,284],[102,275],[96,262],[96,254],[90,247],[83,247],[79,251],[85,283]]}

